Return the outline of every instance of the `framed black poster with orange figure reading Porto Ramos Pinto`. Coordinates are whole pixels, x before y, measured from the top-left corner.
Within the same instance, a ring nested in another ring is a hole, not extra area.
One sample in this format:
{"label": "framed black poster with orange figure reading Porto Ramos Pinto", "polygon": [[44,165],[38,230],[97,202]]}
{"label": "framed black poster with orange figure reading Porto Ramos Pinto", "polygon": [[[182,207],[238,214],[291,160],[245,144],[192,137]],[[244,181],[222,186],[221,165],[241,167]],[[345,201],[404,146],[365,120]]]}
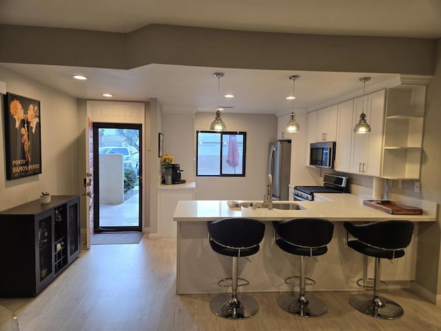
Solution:
{"label": "framed black poster with orange figure reading Porto Ramos Pinto", "polygon": [[12,93],[4,100],[6,179],[41,174],[40,101]]}

